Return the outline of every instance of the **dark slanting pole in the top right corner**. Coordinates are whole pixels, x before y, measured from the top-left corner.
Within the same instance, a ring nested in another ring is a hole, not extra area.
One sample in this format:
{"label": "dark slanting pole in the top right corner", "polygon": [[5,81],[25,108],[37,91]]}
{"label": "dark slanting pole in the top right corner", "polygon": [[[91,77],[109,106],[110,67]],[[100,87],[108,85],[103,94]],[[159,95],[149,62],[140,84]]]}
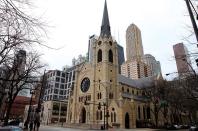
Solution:
{"label": "dark slanting pole in the top right corner", "polygon": [[[189,15],[190,15],[190,19],[191,19],[191,22],[192,22],[192,25],[193,25],[193,29],[194,29],[194,32],[195,32],[195,36],[196,36],[196,39],[197,39],[197,42],[198,42],[198,29],[197,29],[197,24],[195,22],[195,18],[194,18],[194,15],[193,15],[193,12],[192,12],[192,9],[191,9],[191,6],[192,3],[190,0],[185,0],[186,1],[186,5],[187,5],[187,8],[188,8],[188,12],[189,12]],[[191,6],[190,6],[191,4]],[[193,7],[194,8],[194,7]],[[198,46],[198,44],[197,44]]]}

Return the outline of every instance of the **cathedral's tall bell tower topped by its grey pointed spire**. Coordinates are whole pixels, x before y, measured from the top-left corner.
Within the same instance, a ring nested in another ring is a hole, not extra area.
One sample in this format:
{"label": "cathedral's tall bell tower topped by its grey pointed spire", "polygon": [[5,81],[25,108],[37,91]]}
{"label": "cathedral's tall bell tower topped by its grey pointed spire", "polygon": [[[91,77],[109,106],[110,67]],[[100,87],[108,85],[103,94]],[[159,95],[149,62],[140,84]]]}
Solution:
{"label": "cathedral's tall bell tower topped by its grey pointed spire", "polygon": [[[93,69],[95,82],[95,102],[106,104],[116,99],[118,52],[117,42],[111,36],[111,28],[105,1],[100,36],[93,47]],[[103,106],[101,108],[104,108]],[[98,109],[96,109],[97,112]],[[101,109],[104,111],[104,109]],[[106,109],[107,110],[107,109]],[[97,120],[97,118],[96,118]]]}

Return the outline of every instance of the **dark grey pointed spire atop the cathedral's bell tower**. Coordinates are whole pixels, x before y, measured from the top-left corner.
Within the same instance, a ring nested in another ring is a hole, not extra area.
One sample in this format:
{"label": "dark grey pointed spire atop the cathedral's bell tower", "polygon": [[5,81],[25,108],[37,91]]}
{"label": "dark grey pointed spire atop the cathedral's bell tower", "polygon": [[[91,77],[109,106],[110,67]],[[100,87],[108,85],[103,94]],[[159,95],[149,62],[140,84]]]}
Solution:
{"label": "dark grey pointed spire atop the cathedral's bell tower", "polygon": [[109,24],[109,15],[107,10],[107,2],[105,0],[104,11],[103,11],[103,18],[102,18],[102,26],[100,31],[100,36],[111,36],[111,29]]}

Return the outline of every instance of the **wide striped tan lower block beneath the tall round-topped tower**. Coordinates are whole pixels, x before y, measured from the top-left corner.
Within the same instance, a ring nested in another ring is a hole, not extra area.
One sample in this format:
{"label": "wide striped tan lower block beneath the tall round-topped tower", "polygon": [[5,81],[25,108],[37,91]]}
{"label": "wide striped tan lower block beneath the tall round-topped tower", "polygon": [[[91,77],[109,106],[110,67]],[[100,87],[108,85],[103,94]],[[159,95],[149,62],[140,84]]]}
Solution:
{"label": "wide striped tan lower block beneath the tall round-topped tower", "polygon": [[131,60],[122,64],[121,74],[131,79],[140,79],[151,76],[151,70],[144,62]]}

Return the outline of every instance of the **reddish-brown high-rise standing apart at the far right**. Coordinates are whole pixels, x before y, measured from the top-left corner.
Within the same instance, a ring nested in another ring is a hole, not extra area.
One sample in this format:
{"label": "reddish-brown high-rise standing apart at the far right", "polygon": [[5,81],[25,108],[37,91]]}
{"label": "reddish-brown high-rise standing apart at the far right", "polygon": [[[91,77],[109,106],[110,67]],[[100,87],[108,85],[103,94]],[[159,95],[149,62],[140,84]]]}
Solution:
{"label": "reddish-brown high-rise standing apart at the far right", "polygon": [[178,43],[173,45],[173,50],[179,76],[192,74],[192,65],[186,46],[183,43]]}

